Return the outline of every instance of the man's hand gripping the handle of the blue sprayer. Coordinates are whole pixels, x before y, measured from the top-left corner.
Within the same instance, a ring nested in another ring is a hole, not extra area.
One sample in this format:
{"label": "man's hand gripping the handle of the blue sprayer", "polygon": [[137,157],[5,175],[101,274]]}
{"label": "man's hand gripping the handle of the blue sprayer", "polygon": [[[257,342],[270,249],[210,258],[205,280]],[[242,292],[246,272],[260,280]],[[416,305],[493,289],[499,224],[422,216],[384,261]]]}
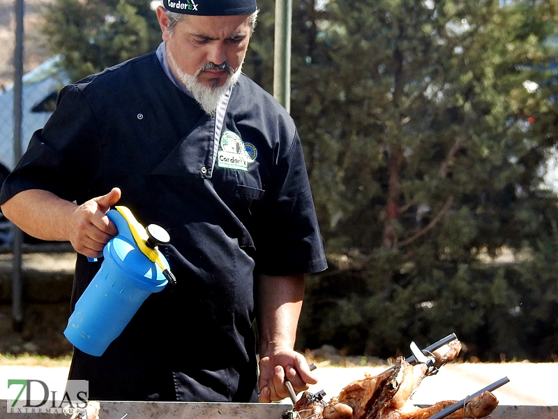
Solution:
{"label": "man's hand gripping the handle of the blue sprayer", "polygon": [[119,188],[106,195],[88,200],[75,208],[70,217],[69,240],[74,249],[89,258],[97,258],[105,244],[118,234],[107,216],[108,210],[121,197]]}

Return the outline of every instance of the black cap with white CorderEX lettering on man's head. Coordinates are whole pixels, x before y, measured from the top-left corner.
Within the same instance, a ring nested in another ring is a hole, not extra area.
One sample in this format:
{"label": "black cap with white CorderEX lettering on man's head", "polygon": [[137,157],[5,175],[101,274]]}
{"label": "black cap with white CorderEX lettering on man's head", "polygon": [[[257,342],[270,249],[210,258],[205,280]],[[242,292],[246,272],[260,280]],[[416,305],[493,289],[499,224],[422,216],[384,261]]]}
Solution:
{"label": "black cap with white CorderEX lettering on man's head", "polygon": [[184,15],[250,15],[257,10],[256,0],[163,0],[169,12]]}

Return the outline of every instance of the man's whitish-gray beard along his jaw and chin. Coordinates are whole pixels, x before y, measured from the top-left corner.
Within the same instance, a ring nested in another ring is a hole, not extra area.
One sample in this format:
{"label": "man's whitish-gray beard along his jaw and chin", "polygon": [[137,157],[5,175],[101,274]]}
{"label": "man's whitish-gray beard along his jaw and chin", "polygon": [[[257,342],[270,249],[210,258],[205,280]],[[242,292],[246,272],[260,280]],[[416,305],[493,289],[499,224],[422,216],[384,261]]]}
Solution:
{"label": "man's whitish-gray beard along his jaw and chin", "polygon": [[199,73],[202,72],[202,68],[196,71],[195,75],[184,73],[176,64],[176,61],[174,60],[174,57],[172,57],[169,50],[167,50],[167,56],[180,81],[183,82],[186,89],[190,91],[190,94],[192,94],[195,101],[199,103],[207,115],[215,114],[218,106],[223,101],[223,96],[225,96],[227,91],[239,81],[241,75],[242,64],[239,66],[238,70],[227,78],[227,81],[223,84],[223,86],[217,87],[212,85],[211,87],[208,87],[197,81]]}

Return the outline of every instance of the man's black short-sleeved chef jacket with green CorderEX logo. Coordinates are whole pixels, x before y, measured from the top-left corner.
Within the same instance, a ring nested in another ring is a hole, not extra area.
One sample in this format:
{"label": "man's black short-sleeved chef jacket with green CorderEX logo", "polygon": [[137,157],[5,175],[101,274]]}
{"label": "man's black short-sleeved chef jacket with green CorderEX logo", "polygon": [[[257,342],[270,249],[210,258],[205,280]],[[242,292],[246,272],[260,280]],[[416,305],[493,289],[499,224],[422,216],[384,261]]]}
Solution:
{"label": "man's black short-sleeved chef jacket with green CorderEX logo", "polygon": [[[140,223],[169,231],[178,285],[102,356],[75,350],[69,378],[90,399],[255,401],[255,273],[326,267],[291,117],[245,75],[210,117],[147,54],[61,91],[0,203],[45,189],[81,204],[114,186]],[[100,263],[77,256],[72,307]]]}

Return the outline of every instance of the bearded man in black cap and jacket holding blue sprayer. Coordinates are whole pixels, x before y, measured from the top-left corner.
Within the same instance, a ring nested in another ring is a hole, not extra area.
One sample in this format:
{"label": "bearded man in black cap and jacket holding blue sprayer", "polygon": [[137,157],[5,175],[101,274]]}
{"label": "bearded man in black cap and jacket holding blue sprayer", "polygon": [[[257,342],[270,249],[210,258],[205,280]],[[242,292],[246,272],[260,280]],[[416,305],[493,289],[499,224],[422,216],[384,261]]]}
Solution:
{"label": "bearded man in black cap and jacket holding blue sprayer", "polygon": [[[119,203],[166,228],[178,284],[107,351],[75,350],[90,399],[271,402],[316,383],[293,350],[304,274],[326,267],[292,119],[241,66],[255,0],[165,0],[163,43],[65,87],[0,195],[27,233],[78,252],[73,304]],[[259,337],[257,378],[256,319]]]}

